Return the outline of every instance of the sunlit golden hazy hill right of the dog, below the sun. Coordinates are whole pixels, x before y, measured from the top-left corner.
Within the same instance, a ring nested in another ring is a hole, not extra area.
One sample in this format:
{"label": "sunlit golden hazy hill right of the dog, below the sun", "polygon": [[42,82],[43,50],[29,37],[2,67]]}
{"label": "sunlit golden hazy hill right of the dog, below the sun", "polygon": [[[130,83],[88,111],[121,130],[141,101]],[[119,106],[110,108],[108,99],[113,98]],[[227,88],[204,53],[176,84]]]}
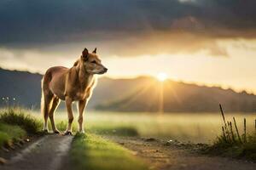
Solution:
{"label": "sunlit golden hazy hill right of the dog, below the sun", "polygon": [[[105,78],[109,87],[100,83],[102,93],[113,94],[109,101],[96,105],[104,111],[218,111],[218,104],[224,105],[225,111],[256,111],[256,96],[246,92],[236,93],[232,89],[209,88],[183,82],[168,80],[161,83],[150,77],[129,80]],[[102,84],[102,85],[101,85]],[[102,86],[102,87],[101,87]],[[97,96],[97,95],[96,95]],[[98,94],[98,97],[101,96]]]}

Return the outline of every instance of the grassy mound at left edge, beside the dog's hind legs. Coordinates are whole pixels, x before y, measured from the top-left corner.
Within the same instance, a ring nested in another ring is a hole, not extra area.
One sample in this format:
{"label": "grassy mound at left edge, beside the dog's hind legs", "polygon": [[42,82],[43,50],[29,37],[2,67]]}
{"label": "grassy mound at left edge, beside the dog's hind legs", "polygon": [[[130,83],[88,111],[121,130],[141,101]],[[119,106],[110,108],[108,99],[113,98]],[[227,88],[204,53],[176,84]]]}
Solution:
{"label": "grassy mound at left edge, beside the dog's hind legs", "polygon": [[27,136],[38,134],[41,123],[20,108],[5,108],[0,111],[0,148],[12,146]]}

